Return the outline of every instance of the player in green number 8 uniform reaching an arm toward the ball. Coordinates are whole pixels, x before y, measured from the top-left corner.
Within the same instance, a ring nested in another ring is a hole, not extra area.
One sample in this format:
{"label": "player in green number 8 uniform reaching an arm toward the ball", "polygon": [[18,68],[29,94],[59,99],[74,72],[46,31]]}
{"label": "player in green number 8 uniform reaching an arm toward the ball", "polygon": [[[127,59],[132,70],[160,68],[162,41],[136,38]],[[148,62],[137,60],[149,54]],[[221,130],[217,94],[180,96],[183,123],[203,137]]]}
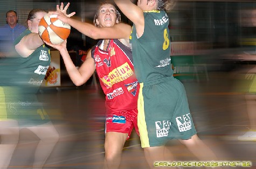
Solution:
{"label": "player in green number 8 uniform reaching an arm toward the ball", "polygon": [[168,160],[164,157],[164,145],[170,139],[178,139],[200,160],[216,160],[196,134],[183,84],[172,76],[169,17],[165,11],[174,2],[138,0],[136,6],[129,0],[114,1],[133,22],[133,27],[120,23],[95,28],[58,11],[52,14],[93,39],[130,39],[135,74],[141,85],[138,100],[141,146],[150,168],[154,168],[156,161]]}

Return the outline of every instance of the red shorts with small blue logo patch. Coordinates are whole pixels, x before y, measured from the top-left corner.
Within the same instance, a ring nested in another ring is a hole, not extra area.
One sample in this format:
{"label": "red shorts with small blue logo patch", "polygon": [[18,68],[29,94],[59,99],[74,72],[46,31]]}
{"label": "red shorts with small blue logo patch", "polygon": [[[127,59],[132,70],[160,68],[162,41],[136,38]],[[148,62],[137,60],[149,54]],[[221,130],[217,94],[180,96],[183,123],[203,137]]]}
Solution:
{"label": "red shorts with small blue logo patch", "polygon": [[137,108],[122,112],[108,112],[105,123],[105,133],[109,131],[128,133],[127,139],[129,139],[134,128],[137,135],[140,136],[137,124],[137,114]]}

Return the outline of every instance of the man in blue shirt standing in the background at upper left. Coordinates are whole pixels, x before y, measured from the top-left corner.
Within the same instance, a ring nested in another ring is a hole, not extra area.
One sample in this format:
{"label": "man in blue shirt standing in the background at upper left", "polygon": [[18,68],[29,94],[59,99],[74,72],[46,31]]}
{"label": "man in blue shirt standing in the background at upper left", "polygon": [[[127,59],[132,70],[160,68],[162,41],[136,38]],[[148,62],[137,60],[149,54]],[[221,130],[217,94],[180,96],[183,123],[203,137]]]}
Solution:
{"label": "man in blue shirt standing in the background at upper left", "polygon": [[17,23],[17,13],[13,10],[6,12],[6,23],[0,28],[0,53],[8,56],[12,52],[14,40],[26,30],[26,27]]}

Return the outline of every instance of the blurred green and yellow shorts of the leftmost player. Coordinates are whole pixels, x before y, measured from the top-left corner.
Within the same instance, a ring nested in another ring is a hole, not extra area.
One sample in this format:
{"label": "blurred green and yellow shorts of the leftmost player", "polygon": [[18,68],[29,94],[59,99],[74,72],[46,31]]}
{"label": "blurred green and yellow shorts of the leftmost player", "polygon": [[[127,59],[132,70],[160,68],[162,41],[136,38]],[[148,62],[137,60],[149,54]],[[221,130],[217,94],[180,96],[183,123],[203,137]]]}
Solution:
{"label": "blurred green and yellow shorts of the leftmost player", "polygon": [[21,91],[18,87],[0,87],[0,111],[1,120],[17,120],[20,127],[50,122],[37,95]]}

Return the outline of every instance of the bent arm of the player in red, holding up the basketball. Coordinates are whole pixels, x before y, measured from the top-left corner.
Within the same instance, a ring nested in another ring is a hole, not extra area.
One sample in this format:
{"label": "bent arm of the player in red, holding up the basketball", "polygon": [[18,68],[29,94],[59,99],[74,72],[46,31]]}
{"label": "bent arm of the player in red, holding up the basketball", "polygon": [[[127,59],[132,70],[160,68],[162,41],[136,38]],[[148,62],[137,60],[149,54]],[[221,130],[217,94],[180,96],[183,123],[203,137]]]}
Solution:
{"label": "bent arm of the player in red, holding up the basketball", "polygon": [[75,67],[73,61],[71,60],[70,54],[68,54],[65,40],[60,45],[52,45],[50,43],[45,42],[47,45],[56,48],[59,50],[60,55],[63,57],[63,61],[67,70],[68,75],[70,76],[72,82],[76,86],[80,86],[87,82],[87,80],[93,75],[95,71],[95,63],[93,58],[91,57],[91,50],[87,54],[85,62],[81,65],[79,69]]}

